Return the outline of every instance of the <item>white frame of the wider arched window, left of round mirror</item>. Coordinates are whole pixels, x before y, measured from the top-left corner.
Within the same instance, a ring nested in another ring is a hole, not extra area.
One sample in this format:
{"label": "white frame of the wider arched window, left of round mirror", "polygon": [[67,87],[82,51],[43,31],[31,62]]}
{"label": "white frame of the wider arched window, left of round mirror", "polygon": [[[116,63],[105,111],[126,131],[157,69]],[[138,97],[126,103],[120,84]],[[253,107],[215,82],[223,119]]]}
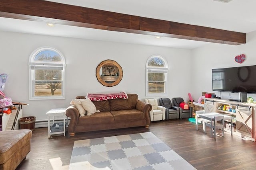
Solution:
{"label": "white frame of the wider arched window, left of round mirror", "polygon": [[[62,59],[62,63],[53,63],[53,62],[38,62],[35,61],[35,57],[38,53],[45,51],[45,50],[50,50],[58,53]],[[29,63],[28,63],[28,100],[54,100],[54,99],[65,99],[65,66],[66,66],[66,61],[65,58],[63,57],[62,53],[60,51],[52,48],[52,47],[40,47],[36,49],[29,58]],[[62,70],[62,95],[61,96],[34,96],[35,92],[35,68],[43,68],[43,67],[48,67],[48,68],[54,68],[56,70]]]}

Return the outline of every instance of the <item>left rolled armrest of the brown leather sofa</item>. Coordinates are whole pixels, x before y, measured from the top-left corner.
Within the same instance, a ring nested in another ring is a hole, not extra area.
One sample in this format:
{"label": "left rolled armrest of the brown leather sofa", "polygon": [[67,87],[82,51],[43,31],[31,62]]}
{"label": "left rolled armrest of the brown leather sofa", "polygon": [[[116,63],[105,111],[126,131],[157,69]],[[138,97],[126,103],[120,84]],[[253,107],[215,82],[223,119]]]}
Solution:
{"label": "left rolled armrest of the brown leather sofa", "polygon": [[70,117],[70,123],[68,125],[68,133],[74,134],[76,131],[76,125],[78,123],[79,111],[76,106],[71,105],[66,109],[66,116]]}

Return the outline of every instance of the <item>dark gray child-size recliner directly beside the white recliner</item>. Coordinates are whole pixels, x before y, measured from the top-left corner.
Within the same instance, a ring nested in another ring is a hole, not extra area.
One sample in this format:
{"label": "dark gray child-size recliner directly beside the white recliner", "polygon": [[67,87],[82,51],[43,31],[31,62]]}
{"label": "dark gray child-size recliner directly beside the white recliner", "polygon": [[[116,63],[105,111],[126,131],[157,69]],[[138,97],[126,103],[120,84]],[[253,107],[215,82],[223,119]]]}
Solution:
{"label": "dark gray child-size recliner directly beside the white recliner", "polygon": [[180,107],[178,108],[173,107],[172,102],[169,98],[160,98],[159,104],[160,106],[164,106],[166,108],[166,111],[165,111],[166,120],[180,118]]}

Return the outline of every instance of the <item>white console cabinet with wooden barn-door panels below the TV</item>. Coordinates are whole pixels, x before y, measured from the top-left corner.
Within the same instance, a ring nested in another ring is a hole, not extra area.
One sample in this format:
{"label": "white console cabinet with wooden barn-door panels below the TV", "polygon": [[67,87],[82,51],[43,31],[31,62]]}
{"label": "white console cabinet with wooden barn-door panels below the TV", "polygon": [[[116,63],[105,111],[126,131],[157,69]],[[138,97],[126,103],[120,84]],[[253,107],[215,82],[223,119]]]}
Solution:
{"label": "white console cabinet with wooden barn-door panels below the TV", "polygon": [[[224,110],[223,107],[229,107],[231,111]],[[205,98],[204,109],[205,112],[217,112],[227,114],[233,117],[234,135],[256,141],[256,104],[249,104],[244,102],[234,102],[230,100]],[[233,110],[233,111],[232,111]],[[235,111],[235,112],[234,112]],[[230,122],[226,122],[225,131],[230,132]]]}

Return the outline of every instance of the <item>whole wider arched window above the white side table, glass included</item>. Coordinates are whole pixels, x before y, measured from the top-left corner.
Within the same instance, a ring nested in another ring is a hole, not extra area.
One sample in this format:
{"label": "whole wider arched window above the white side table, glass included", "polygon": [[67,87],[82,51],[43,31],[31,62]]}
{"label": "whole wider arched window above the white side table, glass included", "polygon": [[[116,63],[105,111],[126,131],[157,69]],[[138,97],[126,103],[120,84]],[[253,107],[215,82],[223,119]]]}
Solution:
{"label": "whole wider arched window above the white side table, glass included", "polygon": [[29,100],[64,99],[65,59],[51,47],[36,49],[29,60]]}

